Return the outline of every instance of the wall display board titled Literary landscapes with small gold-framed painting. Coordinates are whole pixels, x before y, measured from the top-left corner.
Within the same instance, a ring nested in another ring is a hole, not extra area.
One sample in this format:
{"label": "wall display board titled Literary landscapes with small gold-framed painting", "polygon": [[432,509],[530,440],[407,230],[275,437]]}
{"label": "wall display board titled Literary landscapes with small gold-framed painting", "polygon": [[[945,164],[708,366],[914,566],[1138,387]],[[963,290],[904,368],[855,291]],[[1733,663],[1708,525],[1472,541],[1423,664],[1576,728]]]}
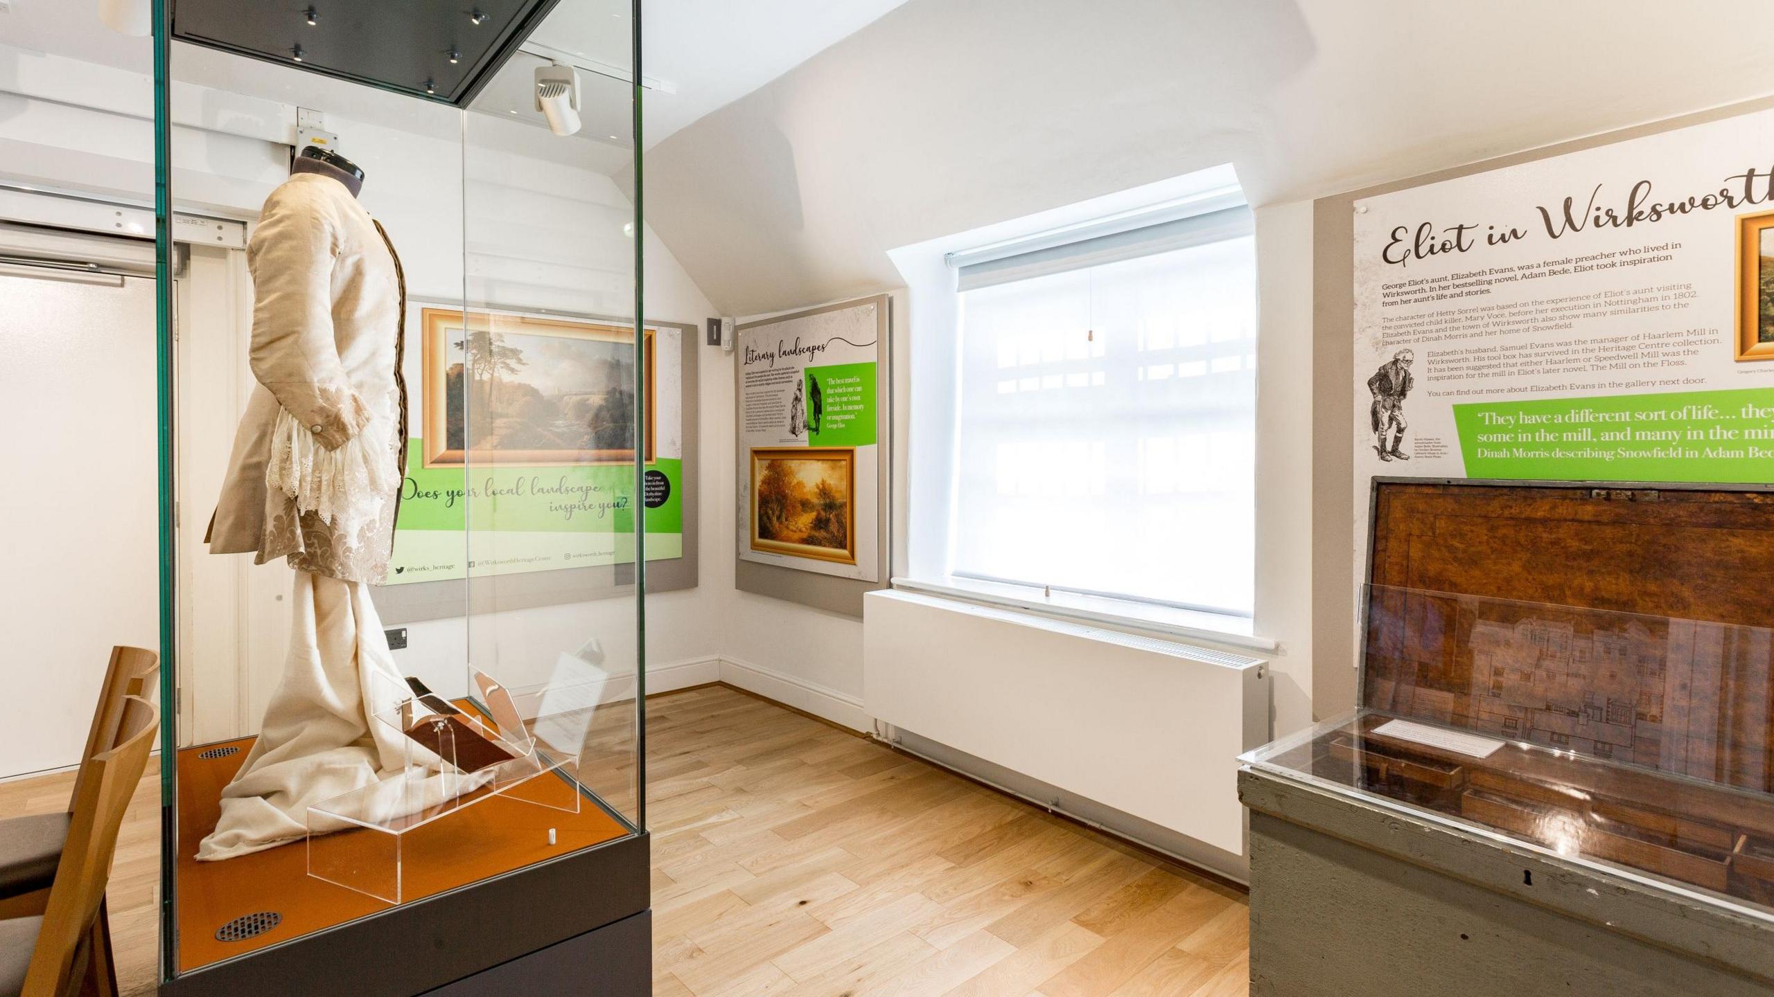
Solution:
{"label": "wall display board titled Literary landscapes with small gold-framed painting", "polygon": [[738,326],[740,589],[860,614],[883,580],[889,309],[880,294]]}

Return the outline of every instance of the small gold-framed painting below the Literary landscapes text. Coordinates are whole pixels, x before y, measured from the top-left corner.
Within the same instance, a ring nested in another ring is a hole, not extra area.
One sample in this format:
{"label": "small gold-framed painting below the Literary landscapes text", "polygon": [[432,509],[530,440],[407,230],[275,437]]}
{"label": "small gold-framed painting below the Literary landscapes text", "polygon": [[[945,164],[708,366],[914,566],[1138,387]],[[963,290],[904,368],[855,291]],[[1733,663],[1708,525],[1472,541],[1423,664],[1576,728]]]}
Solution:
{"label": "small gold-framed painting below the Literary landscapes text", "polygon": [[[752,447],[750,461],[752,550],[857,562],[855,447]],[[821,488],[832,495],[820,498]],[[836,495],[839,488],[843,495]],[[834,529],[843,530],[843,545]]]}

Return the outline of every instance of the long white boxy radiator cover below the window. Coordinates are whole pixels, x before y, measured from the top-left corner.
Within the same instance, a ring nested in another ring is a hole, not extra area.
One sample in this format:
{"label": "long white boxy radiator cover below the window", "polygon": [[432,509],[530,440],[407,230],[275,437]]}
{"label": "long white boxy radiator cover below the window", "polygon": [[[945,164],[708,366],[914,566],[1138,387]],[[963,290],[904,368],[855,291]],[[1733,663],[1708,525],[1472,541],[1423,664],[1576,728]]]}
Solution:
{"label": "long white boxy radiator cover below the window", "polygon": [[1244,855],[1268,662],[914,593],[864,598],[875,718]]}

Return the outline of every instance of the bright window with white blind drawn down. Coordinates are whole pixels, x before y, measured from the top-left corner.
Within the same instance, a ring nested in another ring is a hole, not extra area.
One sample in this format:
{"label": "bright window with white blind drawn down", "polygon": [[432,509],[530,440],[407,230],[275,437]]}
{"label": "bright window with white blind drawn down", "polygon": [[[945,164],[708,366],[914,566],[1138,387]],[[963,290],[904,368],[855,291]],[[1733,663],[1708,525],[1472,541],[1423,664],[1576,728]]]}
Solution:
{"label": "bright window with white blind drawn down", "polygon": [[949,575],[1249,617],[1249,209],[967,255]]}

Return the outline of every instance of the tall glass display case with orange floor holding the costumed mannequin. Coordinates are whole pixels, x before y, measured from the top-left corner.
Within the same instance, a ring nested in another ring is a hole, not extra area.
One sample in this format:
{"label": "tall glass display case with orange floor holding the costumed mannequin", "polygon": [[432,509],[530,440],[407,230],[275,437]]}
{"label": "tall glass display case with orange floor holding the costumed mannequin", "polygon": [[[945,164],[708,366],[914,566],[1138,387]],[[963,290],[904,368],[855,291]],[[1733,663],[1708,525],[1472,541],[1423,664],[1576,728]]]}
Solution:
{"label": "tall glass display case with orange floor holding the costumed mannequin", "polygon": [[639,28],[156,2],[163,993],[648,992]]}

